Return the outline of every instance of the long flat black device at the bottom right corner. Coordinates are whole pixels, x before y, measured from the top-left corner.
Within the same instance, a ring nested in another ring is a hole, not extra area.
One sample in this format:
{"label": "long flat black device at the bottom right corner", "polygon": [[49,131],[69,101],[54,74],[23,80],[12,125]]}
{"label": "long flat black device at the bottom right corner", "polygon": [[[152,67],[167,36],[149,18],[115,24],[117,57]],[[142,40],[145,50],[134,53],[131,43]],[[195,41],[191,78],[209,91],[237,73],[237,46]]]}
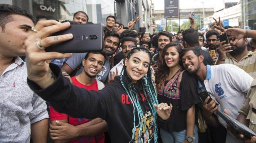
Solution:
{"label": "long flat black device at the bottom right corner", "polygon": [[217,110],[216,113],[238,133],[240,133],[248,138],[251,138],[252,136],[256,136],[256,133],[254,133],[254,131],[252,131],[250,128],[248,128],[246,125],[244,125],[240,121],[237,121],[233,117],[226,115],[225,113],[223,113],[219,110]]}

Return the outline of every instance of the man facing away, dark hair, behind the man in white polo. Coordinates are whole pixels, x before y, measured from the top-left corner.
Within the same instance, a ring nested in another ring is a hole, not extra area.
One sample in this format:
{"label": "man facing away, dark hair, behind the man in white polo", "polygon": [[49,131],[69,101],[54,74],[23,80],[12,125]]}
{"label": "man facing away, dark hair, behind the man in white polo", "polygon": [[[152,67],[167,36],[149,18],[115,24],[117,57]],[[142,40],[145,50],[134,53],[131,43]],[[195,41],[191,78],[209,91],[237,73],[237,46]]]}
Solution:
{"label": "man facing away, dark hair, behind the man in white polo", "polygon": [[198,48],[200,52],[204,56],[204,65],[213,65],[212,58],[208,54],[208,52],[202,50],[201,46],[199,46],[199,34],[193,28],[189,28],[182,32],[183,36],[183,45],[185,48]]}

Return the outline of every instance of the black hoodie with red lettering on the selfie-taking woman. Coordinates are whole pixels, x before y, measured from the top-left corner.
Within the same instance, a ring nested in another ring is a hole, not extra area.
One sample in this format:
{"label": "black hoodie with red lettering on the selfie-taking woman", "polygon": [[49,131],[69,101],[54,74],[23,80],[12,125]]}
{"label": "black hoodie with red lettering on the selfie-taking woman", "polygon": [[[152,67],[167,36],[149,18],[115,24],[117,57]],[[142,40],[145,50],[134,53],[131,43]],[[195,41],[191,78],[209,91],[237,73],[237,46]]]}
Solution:
{"label": "black hoodie with red lettering on the selfie-taking woman", "polygon": [[[72,85],[68,78],[64,78],[58,66],[50,64],[51,70],[57,75],[56,81],[45,89],[28,79],[28,85],[42,99],[48,101],[54,109],[60,113],[66,113],[71,117],[93,119],[100,117],[108,123],[108,132],[112,143],[128,143],[132,139],[133,129],[133,104],[124,90],[120,76],[114,78],[112,83],[99,91],[88,91]],[[127,87],[123,77],[124,85]],[[150,143],[154,142],[154,118],[147,97],[144,96],[142,84],[135,83],[140,106],[146,118]],[[135,110],[136,124],[138,125],[138,113]],[[137,129],[138,130],[138,129]],[[135,132],[135,139],[138,132]],[[145,129],[143,129],[145,131]],[[141,137],[147,135],[142,133]],[[148,138],[148,137],[146,137]],[[134,141],[138,143],[138,141]]]}

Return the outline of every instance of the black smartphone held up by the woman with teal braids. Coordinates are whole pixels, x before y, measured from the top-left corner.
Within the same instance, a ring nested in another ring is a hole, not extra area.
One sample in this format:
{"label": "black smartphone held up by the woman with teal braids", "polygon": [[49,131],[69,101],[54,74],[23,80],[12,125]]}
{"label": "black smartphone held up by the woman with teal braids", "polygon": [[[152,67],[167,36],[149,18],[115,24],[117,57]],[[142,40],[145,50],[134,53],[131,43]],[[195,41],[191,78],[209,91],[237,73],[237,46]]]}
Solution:
{"label": "black smartphone held up by the woman with teal braids", "polygon": [[100,52],[103,45],[103,28],[102,24],[71,24],[68,29],[50,34],[50,36],[71,33],[73,38],[51,45],[45,51],[60,53]]}

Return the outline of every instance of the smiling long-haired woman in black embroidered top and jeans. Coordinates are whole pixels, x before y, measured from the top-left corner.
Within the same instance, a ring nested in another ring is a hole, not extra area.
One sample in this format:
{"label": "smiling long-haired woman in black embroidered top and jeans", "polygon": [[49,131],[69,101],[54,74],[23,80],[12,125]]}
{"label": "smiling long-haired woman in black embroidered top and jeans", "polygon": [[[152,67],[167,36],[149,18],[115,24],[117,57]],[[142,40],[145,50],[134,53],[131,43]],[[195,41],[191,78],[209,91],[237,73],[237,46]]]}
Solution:
{"label": "smiling long-haired woman in black embroidered top and jeans", "polygon": [[170,119],[158,125],[163,143],[198,143],[195,104],[200,100],[197,83],[180,65],[181,51],[182,48],[178,44],[167,44],[158,60],[158,101],[173,105]]}

